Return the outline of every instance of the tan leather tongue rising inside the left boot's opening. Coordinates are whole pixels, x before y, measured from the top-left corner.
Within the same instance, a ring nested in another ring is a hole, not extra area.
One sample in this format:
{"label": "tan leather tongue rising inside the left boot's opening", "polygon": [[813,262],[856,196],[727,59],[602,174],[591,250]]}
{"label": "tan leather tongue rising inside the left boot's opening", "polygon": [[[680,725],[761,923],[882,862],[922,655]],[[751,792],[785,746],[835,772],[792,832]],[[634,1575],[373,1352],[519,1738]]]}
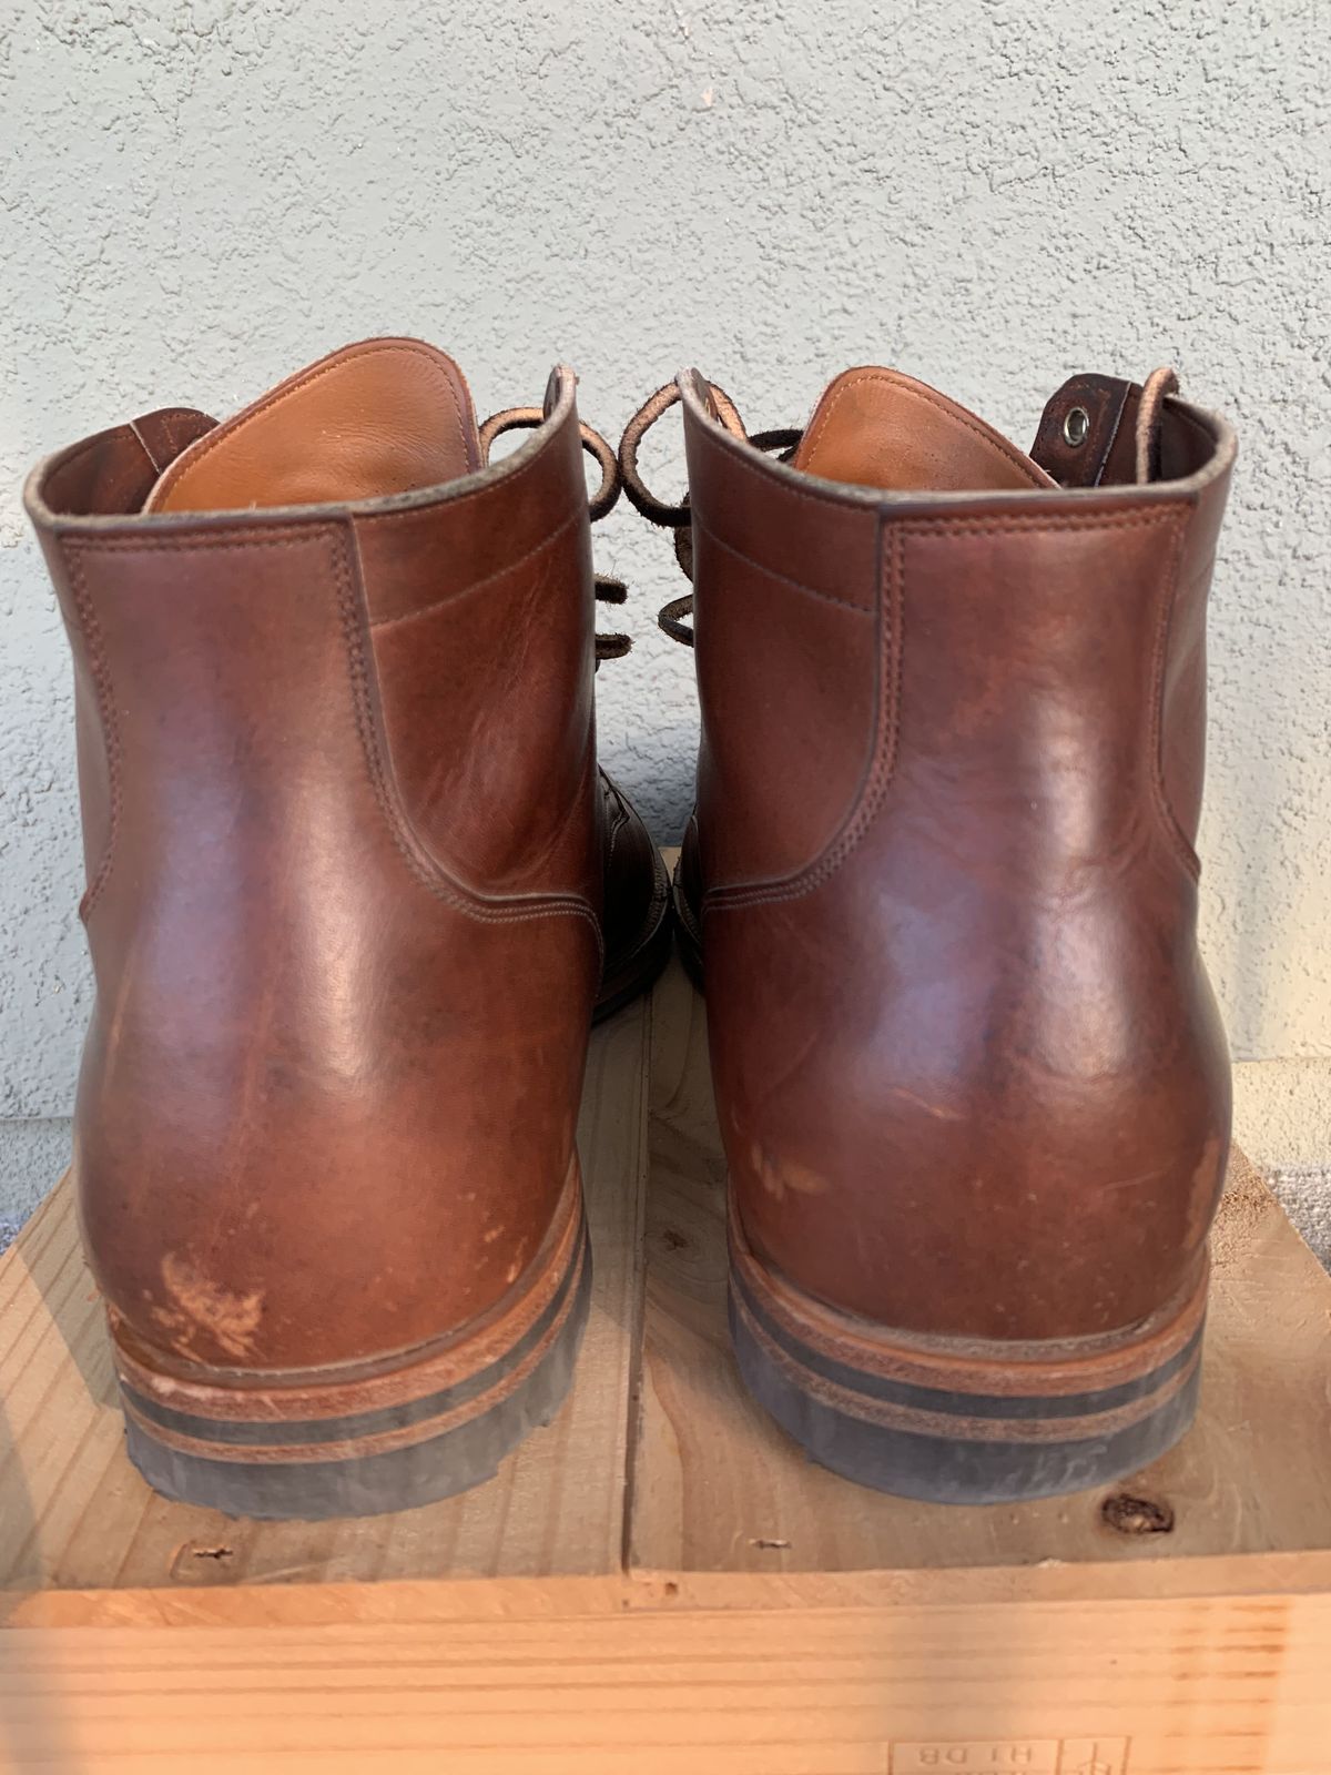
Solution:
{"label": "tan leather tongue rising inside the left boot's opening", "polygon": [[415,339],[346,346],[183,451],[144,511],[380,499],[481,463],[461,371]]}

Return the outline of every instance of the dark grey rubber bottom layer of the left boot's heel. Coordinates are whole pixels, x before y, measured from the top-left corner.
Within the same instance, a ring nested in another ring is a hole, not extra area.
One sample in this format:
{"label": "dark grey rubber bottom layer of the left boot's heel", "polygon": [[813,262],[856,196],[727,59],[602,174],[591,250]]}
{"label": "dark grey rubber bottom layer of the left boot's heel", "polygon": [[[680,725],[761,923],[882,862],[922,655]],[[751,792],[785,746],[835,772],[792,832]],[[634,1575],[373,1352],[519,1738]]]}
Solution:
{"label": "dark grey rubber bottom layer of the left boot's heel", "polygon": [[314,1523],[437,1503],[493,1479],[499,1463],[555,1416],[573,1381],[589,1310],[587,1250],[568,1319],[527,1379],[479,1416],[408,1448],[344,1461],[218,1461],[169,1448],[126,1416],[130,1459],[165,1498],[257,1521]]}

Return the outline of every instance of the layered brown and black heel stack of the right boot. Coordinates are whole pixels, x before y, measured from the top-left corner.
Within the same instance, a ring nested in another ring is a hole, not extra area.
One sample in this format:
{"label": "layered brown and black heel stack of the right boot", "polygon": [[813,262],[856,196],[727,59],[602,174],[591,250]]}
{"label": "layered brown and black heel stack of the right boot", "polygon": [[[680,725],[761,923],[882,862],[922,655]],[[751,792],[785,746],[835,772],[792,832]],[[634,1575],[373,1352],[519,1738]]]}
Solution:
{"label": "layered brown and black heel stack of the right boot", "polygon": [[999,1344],[891,1331],[758,1262],[731,1207],[729,1324],[752,1395],[822,1466],[930,1503],[1084,1491],[1193,1422],[1207,1273],[1127,1333]]}

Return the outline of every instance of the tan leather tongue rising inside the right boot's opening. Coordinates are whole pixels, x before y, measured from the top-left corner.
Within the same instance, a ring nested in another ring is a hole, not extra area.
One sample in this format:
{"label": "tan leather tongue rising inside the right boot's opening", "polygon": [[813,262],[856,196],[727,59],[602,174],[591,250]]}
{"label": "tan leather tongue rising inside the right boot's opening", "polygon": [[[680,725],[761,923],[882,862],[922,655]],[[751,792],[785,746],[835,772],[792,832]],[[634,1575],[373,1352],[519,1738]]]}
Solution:
{"label": "tan leather tongue rising inside the right boot's opening", "polygon": [[829,383],[793,467],[887,492],[1054,486],[974,414],[894,369],[848,369]]}

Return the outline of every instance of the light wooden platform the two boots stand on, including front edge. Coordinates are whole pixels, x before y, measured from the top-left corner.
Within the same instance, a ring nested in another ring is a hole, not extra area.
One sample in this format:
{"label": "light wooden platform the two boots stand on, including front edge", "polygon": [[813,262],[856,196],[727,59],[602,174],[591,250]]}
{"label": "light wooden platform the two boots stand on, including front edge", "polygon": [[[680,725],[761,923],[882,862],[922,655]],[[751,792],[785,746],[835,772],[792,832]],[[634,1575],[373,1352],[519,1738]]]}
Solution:
{"label": "light wooden platform the two boots stand on, including front edge", "polygon": [[1242,1161],[1184,1447],[953,1511],[811,1466],[740,1388],[678,966],[596,1033],[580,1141],[568,1408],[382,1521],[147,1493],[55,1191],[0,1260],[0,1770],[1331,1771],[1331,1282]]}

